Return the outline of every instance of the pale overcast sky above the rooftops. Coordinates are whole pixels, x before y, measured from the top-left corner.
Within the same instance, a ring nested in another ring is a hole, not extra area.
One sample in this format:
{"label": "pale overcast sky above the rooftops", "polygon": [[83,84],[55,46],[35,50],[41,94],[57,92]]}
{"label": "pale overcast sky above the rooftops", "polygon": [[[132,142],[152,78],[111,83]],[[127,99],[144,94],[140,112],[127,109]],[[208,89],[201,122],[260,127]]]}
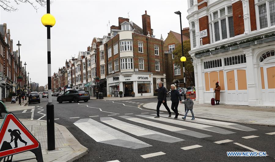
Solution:
{"label": "pale overcast sky above the rooftops", "polygon": [[[14,2],[11,0],[11,3]],[[45,7],[36,12],[30,4],[14,5],[18,11],[0,10],[0,23],[7,23],[13,39],[13,51],[20,41],[21,61],[26,62],[27,73],[30,72],[32,82],[44,86],[47,83],[47,30],[41,23],[46,13]],[[167,37],[170,30],[180,33],[179,16],[182,12],[182,27],[188,27],[187,0],[166,1],[53,1],[50,13],[56,24],[51,28],[51,64],[53,72],[65,66],[66,59],[78,56],[79,51],[86,51],[94,37],[107,35],[107,24],[118,26],[118,17],[128,17],[142,28],[141,15],[151,16],[151,28],[160,39]],[[109,28],[109,26],[108,26]],[[110,29],[108,29],[110,30]]]}

